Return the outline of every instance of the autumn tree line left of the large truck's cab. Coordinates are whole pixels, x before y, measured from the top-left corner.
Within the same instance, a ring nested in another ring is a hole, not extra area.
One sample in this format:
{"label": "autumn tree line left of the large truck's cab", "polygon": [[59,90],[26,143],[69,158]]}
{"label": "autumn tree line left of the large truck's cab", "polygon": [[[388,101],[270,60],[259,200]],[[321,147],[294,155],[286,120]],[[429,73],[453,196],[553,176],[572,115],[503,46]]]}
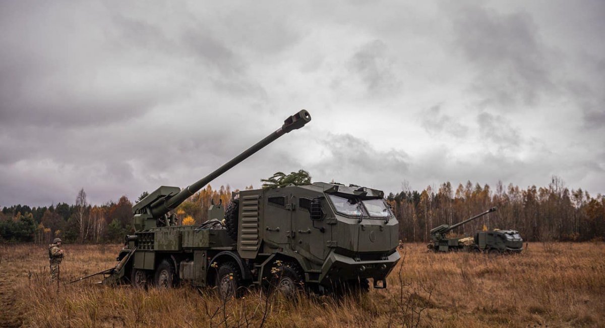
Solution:
{"label": "autumn tree line left of the large truck's cab", "polygon": [[[134,203],[147,194],[143,192]],[[178,223],[202,223],[208,220],[208,208],[213,200],[217,205],[226,205],[230,199],[229,186],[219,189],[206,186],[176,208]],[[59,237],[66,243],[120,242],[126,234],[134,232],[132,204],[128,197],[122,196],[117,202],[91,205],[84,189],[80,189],[73,205],[5,206],[0,212],[0,241],[51,243]]]}

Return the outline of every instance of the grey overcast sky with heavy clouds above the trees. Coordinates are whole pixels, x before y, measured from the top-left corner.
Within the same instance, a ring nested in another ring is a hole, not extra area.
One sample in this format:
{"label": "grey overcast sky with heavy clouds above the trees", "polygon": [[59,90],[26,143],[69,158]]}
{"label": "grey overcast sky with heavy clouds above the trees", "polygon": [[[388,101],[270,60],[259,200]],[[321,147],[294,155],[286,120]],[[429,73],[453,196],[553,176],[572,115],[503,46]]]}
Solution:
{"label": "grey overcast sky with heavy clouds above the trees", "polygon": [[605,2],[1,1],[0,205],[309,171],[605,192]]}

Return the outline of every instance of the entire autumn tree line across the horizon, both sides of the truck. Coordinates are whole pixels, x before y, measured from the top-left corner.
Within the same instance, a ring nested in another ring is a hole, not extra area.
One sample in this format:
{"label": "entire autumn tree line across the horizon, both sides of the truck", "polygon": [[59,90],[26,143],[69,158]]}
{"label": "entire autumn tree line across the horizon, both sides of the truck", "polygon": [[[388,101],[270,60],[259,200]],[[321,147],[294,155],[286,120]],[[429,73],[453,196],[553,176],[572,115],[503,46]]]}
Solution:
{"label": "entire autumn tree line across the horizon, both sides of the truck", "polygon": [[[309,180],[304,180],[308,183]],[[246,189],[252,189],[252,186]],[[400,222],[403,241],[428,241],[430,230],[453,225],[495,206],[497,212],[454,229],[453,235],[471,235],[480,229],[514,229],[528,241],[587,241],[605,238],[605,196],[591,197],[582,189],[568,189],[558,177],[546,187],[504,186],[467,182],[454,188],[450,182],[422,191],[404,185],[388,194],[387,202]],[[236,190],[237,191],[237,190]],[[142,195],[138,202],[147,195]],[[175,210],[178,223],[194,225],[208,220],[212,202],[226,205],[232,197],[229,185],[206,186]],[[60,237],[67,243],[115,243],[134,231],[132,202],[126,196],[103,205],[88,203],[80,189],[73,205],[58,203],[33,207],[13,205],[0,212],[0,241],[50,243]]]}

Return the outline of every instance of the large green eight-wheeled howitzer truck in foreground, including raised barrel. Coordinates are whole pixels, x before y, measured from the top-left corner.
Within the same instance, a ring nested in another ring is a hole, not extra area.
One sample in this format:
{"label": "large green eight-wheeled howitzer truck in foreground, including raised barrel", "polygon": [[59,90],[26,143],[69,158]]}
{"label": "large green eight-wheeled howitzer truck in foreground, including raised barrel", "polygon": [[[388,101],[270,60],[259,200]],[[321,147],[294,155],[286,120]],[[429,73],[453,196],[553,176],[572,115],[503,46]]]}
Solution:
{"label": "large green eight-wheeled howitzer truck in foreground, including raised barrel", "polygon": [[222,297],[267,284],[286,294],[367,290],[368,278],[375,288],[387,287],[400,258],[399,223],[382,191],[322,182],[240,191],[226,207],[224,226],[217,220],[178,226],[170,214],[215,177],[310,120],[302,110],[193,185],[161,186],[134,205],[136,231],[126,236],[116,267],[103,272],[105,283],[186,282],[215,286]]}

